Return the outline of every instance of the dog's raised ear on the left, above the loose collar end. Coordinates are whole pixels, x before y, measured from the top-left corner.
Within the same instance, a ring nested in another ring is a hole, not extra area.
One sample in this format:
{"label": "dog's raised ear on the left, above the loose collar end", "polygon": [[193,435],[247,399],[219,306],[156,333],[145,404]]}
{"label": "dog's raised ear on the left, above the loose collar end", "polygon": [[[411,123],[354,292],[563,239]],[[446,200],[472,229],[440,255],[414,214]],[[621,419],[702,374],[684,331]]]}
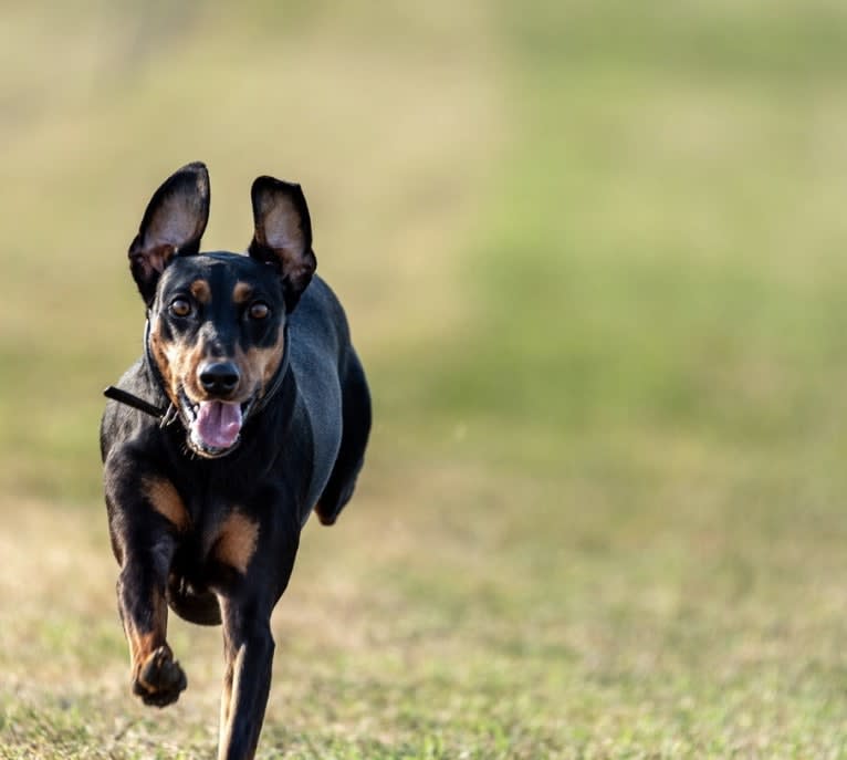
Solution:
{"label": "dog's raised ear on the left, above the loose collar end", "polygon": [[153,302],[159,275],[177,253],[200,250],[208,220],[209,173],[203,164],[188,164],[153,195],[129,246],[129,268],[145,303]]}

